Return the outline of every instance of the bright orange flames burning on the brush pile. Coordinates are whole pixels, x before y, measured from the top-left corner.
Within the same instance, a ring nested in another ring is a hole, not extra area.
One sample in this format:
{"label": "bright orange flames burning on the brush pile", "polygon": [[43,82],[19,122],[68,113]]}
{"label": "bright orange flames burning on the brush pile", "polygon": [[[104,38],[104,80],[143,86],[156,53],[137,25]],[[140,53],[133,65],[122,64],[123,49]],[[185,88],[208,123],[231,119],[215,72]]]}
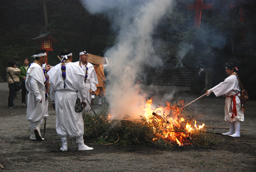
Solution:
{"label": "bright orange flames burning on the brush pile", "polygon": [[[204,127],[204,124],[197,126],[196,120],[194,127],[188,122],[185,122],[184,117],[181,115],[180,107],[177,104],[172,106],[170,103],[166,102],[166,107],[152,110],[152,99],[153,98],[146,101],[144,116],[148,124],[153,127],[154,131],[157,127],[162,129],[162,134],[156,134],[157,138],[161,137],[168,142],[174,142],[182,146],[186,144],[189,133],[201,130]],[[179,104],[184,105],[184,101],[179,101]]]}

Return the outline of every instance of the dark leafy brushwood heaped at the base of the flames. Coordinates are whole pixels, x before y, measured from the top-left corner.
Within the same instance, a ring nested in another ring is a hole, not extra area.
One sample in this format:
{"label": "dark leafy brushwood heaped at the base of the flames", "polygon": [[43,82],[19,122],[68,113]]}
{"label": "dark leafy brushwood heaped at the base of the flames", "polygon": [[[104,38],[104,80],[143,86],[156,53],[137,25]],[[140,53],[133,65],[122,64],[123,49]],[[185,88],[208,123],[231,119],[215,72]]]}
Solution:
{"label": "dark leafy brushwood heaped at the base of the flames", "polygon": [[[132,121],[117,121],[109,118],[109,106],[104,103],[99,113],[83,113],[84,139],[102,145],[124,146],[150,145],[160,149],[178,146],[174,142],[162,139],[162,128],[148,124],[144,117]],[[156,139],[157,138],[157,139]],[[189,134],[190,144],[218,145],[221,140],[206,129],[193,131]]]}

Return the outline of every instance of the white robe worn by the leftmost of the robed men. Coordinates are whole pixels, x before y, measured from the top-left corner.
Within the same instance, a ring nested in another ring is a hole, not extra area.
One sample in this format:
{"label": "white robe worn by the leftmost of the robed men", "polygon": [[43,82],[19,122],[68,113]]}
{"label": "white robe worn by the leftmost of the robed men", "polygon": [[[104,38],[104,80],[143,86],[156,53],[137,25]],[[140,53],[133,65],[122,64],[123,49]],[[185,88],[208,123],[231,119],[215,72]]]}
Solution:
{"label": "white robe worn by the leftmost of the robed men", "polygon": [[[28,94],[28,105],[26,119],[31,122],[48,117],[48,100],[46,100],[46,81],[42,68],[37,63],[32,63],[27,72],[25,81]],[[42,100],[42,103],[39,103]]]}

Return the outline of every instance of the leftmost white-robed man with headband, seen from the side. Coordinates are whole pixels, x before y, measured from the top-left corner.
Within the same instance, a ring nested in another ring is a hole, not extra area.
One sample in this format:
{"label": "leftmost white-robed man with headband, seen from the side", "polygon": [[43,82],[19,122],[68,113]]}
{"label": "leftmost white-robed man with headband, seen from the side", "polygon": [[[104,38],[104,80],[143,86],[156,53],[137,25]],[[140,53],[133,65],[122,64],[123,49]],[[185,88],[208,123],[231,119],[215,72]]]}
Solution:
{"label": "leftmost white-robed man with headband, seen from the side", "polygon": [[47,60],[46,50],[37,50],[35,61],[30,65],[25,81],[28,94],[28,106],[26,119],[30,121],[30,140],[45,140],[41,137],[40,126],[44,119],[48,118],[48,99],[46,97],[46,76],[45,73],[51,66],[46,66],[44,70],[42,64]]}

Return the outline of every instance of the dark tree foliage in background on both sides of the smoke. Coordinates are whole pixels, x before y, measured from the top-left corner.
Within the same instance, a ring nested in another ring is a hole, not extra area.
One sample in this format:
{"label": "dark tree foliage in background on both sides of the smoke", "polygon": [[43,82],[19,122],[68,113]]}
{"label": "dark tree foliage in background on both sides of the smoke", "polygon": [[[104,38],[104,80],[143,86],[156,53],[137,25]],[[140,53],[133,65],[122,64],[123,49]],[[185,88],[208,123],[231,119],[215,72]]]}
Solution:
{"label": "dark tree foliage in background on both sides of the smoke", "polygon": [[[104,14],[90,14],[79,0],[46,2],[47,30],[58,40],[53,44],[54,51],[48,53],[51,65],[59,62],[56,56],[65,48],[73,50],[74,60],[78,60],[81,50],[103,56],[105,50],[114,45],[116,30]],[[224,64],[235,61],[241,69],[239,75],[244,87],[256,95],[253,88],[247,88],[248,80],[256,82],[255,75],[250,75],[256,65],[256,3],[252,0],[204,0],[203,3],[211,3],[213,8],[202,10],[201,27],[195,28],[195,10],[186,7],[195,1],[174,1],[152,35],[156,53],[166,63],[181,62],[186,68],[196,68],[203,63],[216,72],[219,79],[215,79],[214,84],[225,77]],[[243,21],[241,16],[245,18]],[[20,57],[22,63],[22,58],[30,57],[36,51],[37,42],[31,38],[46,30],[43,2],[2,0],[0,22],[0,75],[5,78],[5,68],[12,57]]]}

